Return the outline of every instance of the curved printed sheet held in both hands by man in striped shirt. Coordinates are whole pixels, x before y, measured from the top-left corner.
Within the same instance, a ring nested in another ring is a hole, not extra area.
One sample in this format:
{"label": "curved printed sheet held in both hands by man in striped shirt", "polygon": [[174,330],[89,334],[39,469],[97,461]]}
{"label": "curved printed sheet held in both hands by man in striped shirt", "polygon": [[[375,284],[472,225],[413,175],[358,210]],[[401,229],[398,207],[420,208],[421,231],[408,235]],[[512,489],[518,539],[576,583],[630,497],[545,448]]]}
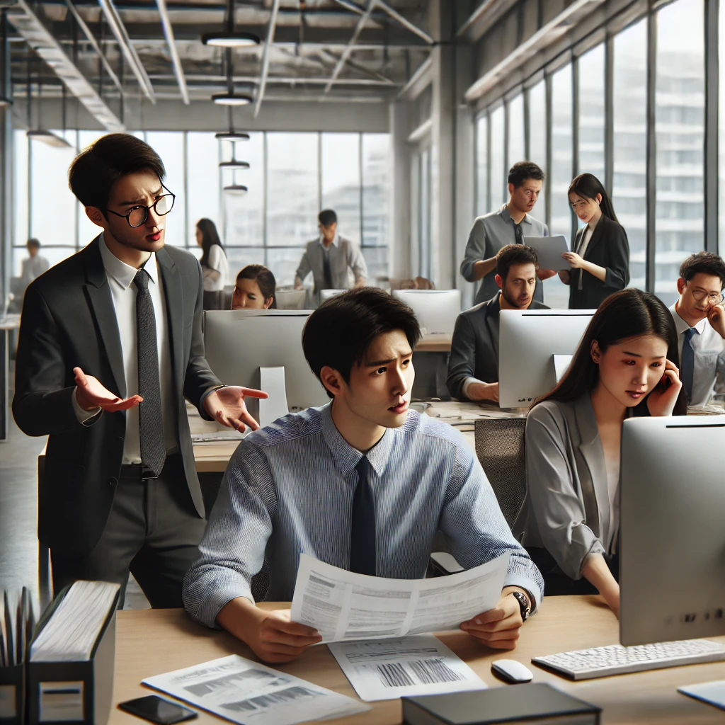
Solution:
{"label": "curved printed sheet held in both hands by man in striped shirt", "polygon": [[501,597],[510,552],[468,571],[434,579],[384,579],[299,557],[291,618],[323,642],[405,637],[458,629]]}

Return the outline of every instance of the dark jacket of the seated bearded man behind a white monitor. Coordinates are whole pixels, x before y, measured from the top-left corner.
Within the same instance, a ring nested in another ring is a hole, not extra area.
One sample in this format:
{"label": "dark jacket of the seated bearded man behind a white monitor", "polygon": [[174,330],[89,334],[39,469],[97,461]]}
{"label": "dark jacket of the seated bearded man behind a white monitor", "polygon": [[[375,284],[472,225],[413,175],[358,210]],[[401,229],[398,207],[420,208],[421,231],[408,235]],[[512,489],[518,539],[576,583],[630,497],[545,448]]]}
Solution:
{"label": "dark jacket of the seated bearded man behind a white monitor", "polygon": [[[498,382],[498,334],[500,293],[458,315],[451,341],[446,384],[452,397],[465,400],[463,384],[468,378]],[[536,300],[529,310],[548,310]]]}

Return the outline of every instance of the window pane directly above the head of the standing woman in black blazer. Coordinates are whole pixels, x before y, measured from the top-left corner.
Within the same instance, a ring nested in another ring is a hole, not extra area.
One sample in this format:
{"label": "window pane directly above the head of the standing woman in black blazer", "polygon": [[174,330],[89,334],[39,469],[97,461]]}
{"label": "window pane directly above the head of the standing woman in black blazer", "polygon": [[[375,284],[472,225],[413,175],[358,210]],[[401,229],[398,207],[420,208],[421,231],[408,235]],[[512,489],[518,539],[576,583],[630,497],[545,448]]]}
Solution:
{"label": "window pane directly above the head of the standing woman in black blazer", "polygon": [[604,183],[604,45],[598,45],[579,64],[579,168]]}

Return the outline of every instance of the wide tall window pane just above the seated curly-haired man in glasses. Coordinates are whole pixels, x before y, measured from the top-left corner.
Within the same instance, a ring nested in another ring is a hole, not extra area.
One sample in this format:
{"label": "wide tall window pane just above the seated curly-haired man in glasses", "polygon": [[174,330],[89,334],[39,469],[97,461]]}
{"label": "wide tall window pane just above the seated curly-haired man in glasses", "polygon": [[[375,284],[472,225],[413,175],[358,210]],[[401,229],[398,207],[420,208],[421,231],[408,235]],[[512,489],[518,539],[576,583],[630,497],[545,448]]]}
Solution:
{"label": "wide tall window pane just above the seated curly-haired man in glasses", "polygon": [[680,263],[704,245],[703,12],[703,0],[678,0],[657,14],[655,294],[668,304]]}

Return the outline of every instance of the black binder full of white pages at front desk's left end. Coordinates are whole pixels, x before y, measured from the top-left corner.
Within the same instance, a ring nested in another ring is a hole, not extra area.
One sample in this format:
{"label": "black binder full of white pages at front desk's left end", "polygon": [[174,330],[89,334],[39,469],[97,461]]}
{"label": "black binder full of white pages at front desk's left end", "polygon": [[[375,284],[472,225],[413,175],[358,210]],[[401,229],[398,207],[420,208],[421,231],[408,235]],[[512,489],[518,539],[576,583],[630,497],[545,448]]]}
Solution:
{"label": "black binder full of white pages at front desk's left end", "polygon": [[[72,585],[71,585],[72,586]],[[38,623],[33,642],[67,595],[65,587]],[[28,656],[28,723],[36,725],[102,725],[107,723],[113,697],[116,650],[116,593],[91,659],[83,662],[31,662]]]}

